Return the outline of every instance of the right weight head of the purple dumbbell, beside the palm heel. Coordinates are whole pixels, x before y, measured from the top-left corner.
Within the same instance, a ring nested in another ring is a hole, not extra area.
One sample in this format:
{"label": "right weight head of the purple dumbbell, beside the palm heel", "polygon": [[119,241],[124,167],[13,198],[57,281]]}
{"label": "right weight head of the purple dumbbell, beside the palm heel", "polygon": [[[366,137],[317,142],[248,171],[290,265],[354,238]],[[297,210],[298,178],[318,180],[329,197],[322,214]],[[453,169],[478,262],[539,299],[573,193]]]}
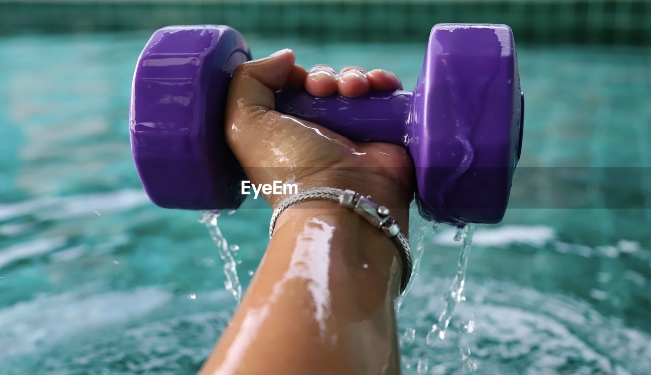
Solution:
{"label": "right weight head of the purple dumbbell, beside the palm heel", "polygon": [[521,95],[510,27],[432,29],[409,120],[426,219],[501,221],[521,148]]}

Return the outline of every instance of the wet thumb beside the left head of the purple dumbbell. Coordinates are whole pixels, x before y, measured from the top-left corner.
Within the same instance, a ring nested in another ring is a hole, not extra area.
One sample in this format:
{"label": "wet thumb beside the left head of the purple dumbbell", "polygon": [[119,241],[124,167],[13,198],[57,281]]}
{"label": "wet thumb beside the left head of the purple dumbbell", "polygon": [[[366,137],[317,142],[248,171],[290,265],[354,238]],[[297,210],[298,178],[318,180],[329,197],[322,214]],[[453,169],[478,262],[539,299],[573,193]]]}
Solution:
{"label": "wet thumb beside the left head of the purple dumbbell", "polygon": [[233,73],[227,100],[229,117],[255,109],[274,109],[273,92],[281,89],[294,67],[294,51],[281,49],[264,59],[244,62]]}

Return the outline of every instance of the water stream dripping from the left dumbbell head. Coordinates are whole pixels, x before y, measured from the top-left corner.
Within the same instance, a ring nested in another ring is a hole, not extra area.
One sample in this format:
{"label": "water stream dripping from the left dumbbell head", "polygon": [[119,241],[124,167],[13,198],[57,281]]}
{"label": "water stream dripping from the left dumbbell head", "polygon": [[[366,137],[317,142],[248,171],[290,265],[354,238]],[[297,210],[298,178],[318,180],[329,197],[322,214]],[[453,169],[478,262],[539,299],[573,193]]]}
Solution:
{"label": "water stream dripping from the left dumbbell head", "polygon": [[240,247],[237,245],[229,246],[229,243],[226,241],[226,238],[224,238],[217,223],[219,214],[220,212],[218,210],[202,211],[199,223],[204,223],[206,225],[212,240],[217,245],[217,249],[219,249],[219,257],[224,261],[224,274],[226,275],[224,286],[226,287],[226,290],[232,293],[233,297],[239,304],[242,299],[242,285],[240,284],[240,278],[238,277],[238,262],[236,262],[233,257],[233,253],[238,251]]}

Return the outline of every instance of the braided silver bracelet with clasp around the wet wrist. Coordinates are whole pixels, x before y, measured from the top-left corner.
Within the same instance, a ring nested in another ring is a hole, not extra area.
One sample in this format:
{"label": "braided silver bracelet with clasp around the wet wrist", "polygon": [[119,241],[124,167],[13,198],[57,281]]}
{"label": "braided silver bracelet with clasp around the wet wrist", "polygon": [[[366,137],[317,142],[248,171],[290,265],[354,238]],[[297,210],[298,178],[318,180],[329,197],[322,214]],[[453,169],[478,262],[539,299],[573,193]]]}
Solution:
{"label": "braided silver bracelet with clasp around the wet wrist", "polygon": [[377,229],[380,229],[385,236],[391,238],[396,243],[398,253],[402,260],[400,292],[404,292],[411,278],[411,247],[409,247],[409,240],[400,232],[398,223],[389,216],[389,208],[371,201],[370,196],[365,197],[352,190],[335,189],[334,187],[313,187],[312,189],[301,190],[283,199],[275,210],[273,210],[271,222],[269,223],[269,238],[273,235],[276,221],[278,221],[278,217],[284,210],[298,202],[317,201],[321,199],[337,201],[340,206],[353,210],[353,212],[364,217],[369,223]]}

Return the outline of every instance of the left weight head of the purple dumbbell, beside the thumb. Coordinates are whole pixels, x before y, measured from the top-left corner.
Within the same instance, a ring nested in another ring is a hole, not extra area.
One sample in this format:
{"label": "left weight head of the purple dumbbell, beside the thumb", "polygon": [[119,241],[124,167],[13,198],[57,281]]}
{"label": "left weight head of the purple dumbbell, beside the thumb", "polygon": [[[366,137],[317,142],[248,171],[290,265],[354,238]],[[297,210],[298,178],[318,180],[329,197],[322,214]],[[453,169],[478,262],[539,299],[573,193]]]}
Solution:
{"label": "left weight head of the purple dumbbell, beside the thumb", "polygon": [[171,26],[152,35],[133,76],[133,160],[150,199],[166,208],[237,208],[244,174],[223,137],[233,70],[251,59],[228,26]]}

